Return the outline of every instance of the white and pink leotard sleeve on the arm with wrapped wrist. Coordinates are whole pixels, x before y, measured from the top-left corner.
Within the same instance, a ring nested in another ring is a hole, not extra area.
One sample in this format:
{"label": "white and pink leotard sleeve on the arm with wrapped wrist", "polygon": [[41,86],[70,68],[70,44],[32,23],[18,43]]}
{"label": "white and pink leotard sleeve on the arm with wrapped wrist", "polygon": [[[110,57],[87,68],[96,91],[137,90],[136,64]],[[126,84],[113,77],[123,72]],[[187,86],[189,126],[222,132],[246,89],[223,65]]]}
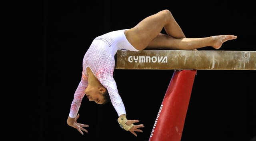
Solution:
{"label": "white and pink leotard sleeve on the arm with wrapped wrist", "polygon": [[124,103],[118,93],[116,81],[113,78],[113,70],[101,69],[96,75],[98,76],[100,83],[108,89],[111,103],[115,108],[118,117],[122,114],[126,114]]}

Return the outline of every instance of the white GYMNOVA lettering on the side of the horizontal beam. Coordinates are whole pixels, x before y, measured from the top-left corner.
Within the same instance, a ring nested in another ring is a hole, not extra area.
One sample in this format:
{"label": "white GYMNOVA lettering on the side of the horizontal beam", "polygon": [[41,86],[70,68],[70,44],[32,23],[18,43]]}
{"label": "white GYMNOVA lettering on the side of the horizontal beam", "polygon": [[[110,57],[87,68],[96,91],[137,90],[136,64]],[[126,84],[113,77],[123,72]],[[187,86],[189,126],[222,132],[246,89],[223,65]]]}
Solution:
{"label": "white GYMNOVA lettering on the side of the horizontal beam", "polygon": [[167,56],[129,56],[130,63],[167,63]]}

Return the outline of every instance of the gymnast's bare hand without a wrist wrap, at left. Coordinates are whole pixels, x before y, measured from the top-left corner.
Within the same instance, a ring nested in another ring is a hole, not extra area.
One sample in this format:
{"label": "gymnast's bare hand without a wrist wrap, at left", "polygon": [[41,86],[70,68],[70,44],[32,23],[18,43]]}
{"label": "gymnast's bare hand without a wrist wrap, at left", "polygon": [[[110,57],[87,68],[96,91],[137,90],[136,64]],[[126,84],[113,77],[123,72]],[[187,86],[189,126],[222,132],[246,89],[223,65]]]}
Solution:
{"label": "gymnast's bare hand without a wrist wrap, at left", "polygon": [[86,133],[88,133],[88,131],[83,127],[89,127],[89,125],[77,123],[78,117],[79,117],[79,114],[75,118],[71,118],[68,116],[67,123],[69,126],[76,128],[82,135],[84,135],[82,131],[85,131]]}

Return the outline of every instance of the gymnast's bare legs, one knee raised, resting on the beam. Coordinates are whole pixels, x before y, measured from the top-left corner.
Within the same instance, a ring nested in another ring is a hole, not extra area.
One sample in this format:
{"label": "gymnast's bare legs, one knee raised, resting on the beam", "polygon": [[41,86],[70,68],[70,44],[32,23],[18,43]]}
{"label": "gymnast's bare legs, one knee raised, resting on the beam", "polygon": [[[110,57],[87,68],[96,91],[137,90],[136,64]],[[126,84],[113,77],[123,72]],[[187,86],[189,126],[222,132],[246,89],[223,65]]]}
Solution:
{"label": "gymnast's bare legs, one knee raised, resting on the beam", "polygon": [[[160,33],[163,28],[167,34]],[[126,30],[125,34],[127,40],[137,50],[160,48],[194,50],[207,46],[219,49],[224,42],[237,38],[234,35],[186,38],[169,10],[162,10],[148,16],[134,26],[134,28]]]}

